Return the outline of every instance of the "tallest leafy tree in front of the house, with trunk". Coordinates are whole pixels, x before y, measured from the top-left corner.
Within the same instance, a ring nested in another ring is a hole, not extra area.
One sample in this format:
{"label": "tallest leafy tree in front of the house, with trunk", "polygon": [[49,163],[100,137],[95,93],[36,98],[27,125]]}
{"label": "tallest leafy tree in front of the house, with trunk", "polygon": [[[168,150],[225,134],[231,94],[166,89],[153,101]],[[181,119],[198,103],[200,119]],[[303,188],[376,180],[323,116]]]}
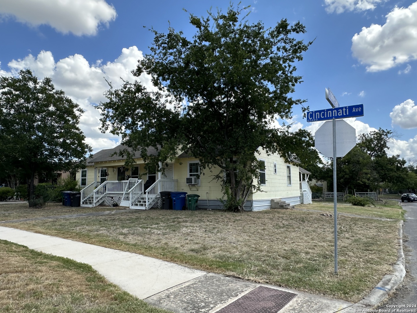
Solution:
{"label": "tallest leafy tree in front of the house, with trunk", "polygon": [[[276,118],[290,119],[294,106],[305,102],[289,95],[301,83],[294,63],[311,44],[291,35],[305,33],[304,26],[283,19],[265,29],[261,22],[249,23],[245,12],[190,14],[192,40],[171,27],[168,33],[151,29],[151,53],[133,73],[150,75],[153,89],[125,82],[111,88],[108,102],[99,106],[102,131],[121,134],[124,144],[141,151],[148,169],[173,159],[178,149],[198,158],[200,171],[219,168],[216,179],[234,210],[242,210],[248,194],[259,190],[259,147],[289,162],[314,145],[305,130],[271,126]],[[158,147],[158,154],[147,156],[148,146]],[[128,164],[132,154],[122,153]]]}

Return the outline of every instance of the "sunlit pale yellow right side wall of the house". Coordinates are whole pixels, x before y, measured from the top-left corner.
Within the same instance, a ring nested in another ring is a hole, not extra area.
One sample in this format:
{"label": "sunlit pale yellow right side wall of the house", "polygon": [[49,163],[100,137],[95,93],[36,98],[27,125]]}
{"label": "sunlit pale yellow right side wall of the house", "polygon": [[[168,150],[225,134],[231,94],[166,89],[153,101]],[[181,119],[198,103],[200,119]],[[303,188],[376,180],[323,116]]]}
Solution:
{"label": "sunlit pale yellow right side wall of the house", "polygon": [[[256,156],[258,159],[265,160],[265,178],[266,185],[261,186],[265,192],[256,192],[251,199],[277,199],[277,198],[300,198],[299,186],[299,171],[298,166],[293,164],[286,164],[284,159],[277,154],[266,155],[265,151],[261,150],[260,155]],[[274,162],[277,165],[277,173],[274,174]],[[291,166],[291,186],[287,185],[286,167]],[[291,199],[291,202],[294,202]],[[265,206],[266,204],[264,204]],[[269,204],[271,207],[271,204]]]}

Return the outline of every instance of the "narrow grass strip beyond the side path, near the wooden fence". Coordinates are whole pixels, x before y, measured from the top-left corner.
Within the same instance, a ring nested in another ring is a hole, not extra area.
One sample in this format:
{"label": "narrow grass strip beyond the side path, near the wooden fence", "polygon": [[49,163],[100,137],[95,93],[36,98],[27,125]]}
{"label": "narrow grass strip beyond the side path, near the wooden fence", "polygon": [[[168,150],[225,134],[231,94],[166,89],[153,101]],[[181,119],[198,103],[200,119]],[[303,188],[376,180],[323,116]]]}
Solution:
{"label": "narrow grass strip beyond the side path, near the wooden fence", "polygon": [[[337,212],[369,217],[384,217],[394,220],[402,220],[404,218],[404,210],[399,206],[398,201],[386,200],[384,202],[377,202],[375,205],[375,207],[373,205],[360,207],[346,203],[337,203]],[[296,208],[333,212],[333,202],[297,204]]]}

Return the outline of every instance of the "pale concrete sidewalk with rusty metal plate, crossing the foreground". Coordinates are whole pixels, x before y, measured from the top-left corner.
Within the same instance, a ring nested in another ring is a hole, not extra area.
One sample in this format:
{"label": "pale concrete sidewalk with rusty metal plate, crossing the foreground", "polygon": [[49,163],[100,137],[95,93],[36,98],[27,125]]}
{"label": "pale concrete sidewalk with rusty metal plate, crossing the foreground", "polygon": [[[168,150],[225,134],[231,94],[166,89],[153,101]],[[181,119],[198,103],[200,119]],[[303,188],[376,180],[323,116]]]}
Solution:
{"label": "pale concrete sidewalk with rusty metal plate, crossing the foreground", "polygon": [[14,228],[0,227],[0,239],[90,264],[127,292],[177,313],[350,313],[372,308]]}

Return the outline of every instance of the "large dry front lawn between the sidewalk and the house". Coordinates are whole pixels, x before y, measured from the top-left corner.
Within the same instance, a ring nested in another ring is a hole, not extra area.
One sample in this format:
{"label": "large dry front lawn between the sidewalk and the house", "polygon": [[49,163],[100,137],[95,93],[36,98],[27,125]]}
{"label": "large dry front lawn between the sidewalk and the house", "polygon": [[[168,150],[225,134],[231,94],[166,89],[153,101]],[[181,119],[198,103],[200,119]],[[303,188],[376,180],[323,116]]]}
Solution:
{"label": "large dry front lawn between the sidewalk and the house", "polygon": [[333,218],[300,210],[138,210],[2,226],[353,302],[391,273],[398,250],[398,220],[340,215],[334,275]]}

